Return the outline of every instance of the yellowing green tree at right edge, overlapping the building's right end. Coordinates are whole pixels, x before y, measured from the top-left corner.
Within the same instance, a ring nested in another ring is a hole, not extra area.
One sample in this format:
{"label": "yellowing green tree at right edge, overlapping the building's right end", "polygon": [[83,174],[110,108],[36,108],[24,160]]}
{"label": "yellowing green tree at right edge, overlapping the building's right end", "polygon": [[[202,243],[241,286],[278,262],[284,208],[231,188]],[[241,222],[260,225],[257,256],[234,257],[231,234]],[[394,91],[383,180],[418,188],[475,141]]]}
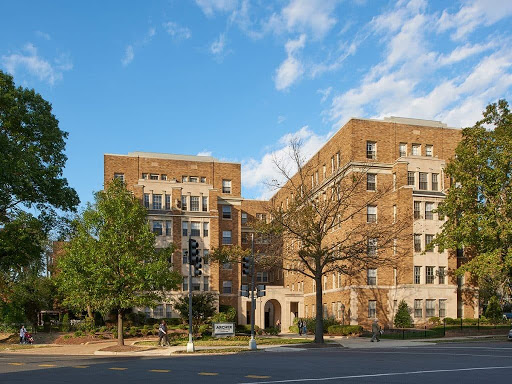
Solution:
{"label": "yellowing green tree at right edge, overlapping the building's right end", "polygon": [[457,273],[471,272],[486,286],[492,281],[493,290],[510,293],[512,114],[505,100],[488,105],[482,120],[462,130],[455,154],[446,167],[452,185],[439,208],[448,219],[435,242],[441,249],[464,249],[466,262]]}

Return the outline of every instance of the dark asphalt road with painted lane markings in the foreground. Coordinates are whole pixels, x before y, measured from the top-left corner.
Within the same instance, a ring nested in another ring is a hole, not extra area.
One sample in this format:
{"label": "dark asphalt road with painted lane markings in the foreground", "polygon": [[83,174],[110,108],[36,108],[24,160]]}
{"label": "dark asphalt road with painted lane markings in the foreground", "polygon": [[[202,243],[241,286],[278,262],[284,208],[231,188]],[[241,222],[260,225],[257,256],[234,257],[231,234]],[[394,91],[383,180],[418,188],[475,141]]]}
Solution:
{"label": "dark asphalt road with painted lane markings in the foreground", "polygon": [[[279,352],[278,352],[279,351]],[[0,383],[504,383],[512,343],[276,349],[166,358],[0,354]]]}

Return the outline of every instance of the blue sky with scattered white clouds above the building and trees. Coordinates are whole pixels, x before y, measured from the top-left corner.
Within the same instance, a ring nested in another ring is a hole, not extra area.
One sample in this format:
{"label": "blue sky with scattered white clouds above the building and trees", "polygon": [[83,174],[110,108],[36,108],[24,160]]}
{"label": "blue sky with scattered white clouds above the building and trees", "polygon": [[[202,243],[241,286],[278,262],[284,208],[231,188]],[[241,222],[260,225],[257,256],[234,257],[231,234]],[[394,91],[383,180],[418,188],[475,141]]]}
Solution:
{"label": "blue sky with scattered white clouds above the building and trees", "polygon": [[[469,126],[511,100],[512,1],[3,1],[0,68],[69,132],[82,202],[103,154],[211,154],[268,196],[272,154],[350,117]],[[8,15],[8,17],[5,17]]]}

